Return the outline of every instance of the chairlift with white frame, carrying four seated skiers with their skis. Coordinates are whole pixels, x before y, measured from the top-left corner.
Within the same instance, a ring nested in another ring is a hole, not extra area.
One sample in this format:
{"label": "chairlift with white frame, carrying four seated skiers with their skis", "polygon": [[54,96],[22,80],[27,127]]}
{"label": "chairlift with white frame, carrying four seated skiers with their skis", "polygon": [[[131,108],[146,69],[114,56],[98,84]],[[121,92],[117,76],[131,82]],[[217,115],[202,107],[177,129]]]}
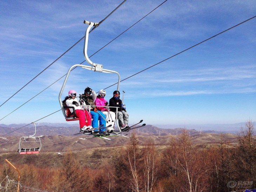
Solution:
{"label": "chairlift with white frame, carrying four seated skiers with their skis", "polygon": [[[59,102],[62,109],[62,113],[66,121],[79,120],[80,131],[82,133],[94,134],[94,135],[97,134],[97,136],[100,136],[100,137],[102,137],[102,135],[109,135],[110,133],[120,135],[119,134],[120,132],[129,131],[129,126],[128,126],[129,114],[126,111],[126,106],[122,103],[122,100],[120,100],[120,92],[119,92],[120,75],[116,71],[103,69],[103,66],[101,64],[94,63],[89,59],[87,54],[89,30],[93,26],[98,25],[98,23],[93,23],[89,21],[84,21],[84,23],[88,24],[89,26],[87,27],[85,32],[85,42],[83,46],[83,53],[85,56],[85,60],[90,66],[75,64],[69,68],[59,94]],[[99,91],[99,94],[96,95],[96,93],[89,87],[85,89],[84,94],[80,95],[79,101],[76,99],[76,92],[74,90],[69,91],[68,95],[69,94],[70,95],[68,96],[67,99],[65,98],[66,100],[63,100],[65,102],[61,101],[61,95],[65,88],[69,74],[72,71],[72,69],[74,69],[75,67],[82,67],[84,69],[88,69],[94,72],[117,74],[118,76],[117,89],[113,92],[113,97],[110,98],[109,103],[105,100],[105,96],[106,96],[105,90],[101,89]],[[73,94],[73,96],[71,94]],[[82,115],[85,117],[81,117]],[[116,122],[117,130],[114,130],[115,122]],[[139,123],[141,122],[142,121],[140,121]],[[145,124],[141,126],[144,126],[144,125]]]}

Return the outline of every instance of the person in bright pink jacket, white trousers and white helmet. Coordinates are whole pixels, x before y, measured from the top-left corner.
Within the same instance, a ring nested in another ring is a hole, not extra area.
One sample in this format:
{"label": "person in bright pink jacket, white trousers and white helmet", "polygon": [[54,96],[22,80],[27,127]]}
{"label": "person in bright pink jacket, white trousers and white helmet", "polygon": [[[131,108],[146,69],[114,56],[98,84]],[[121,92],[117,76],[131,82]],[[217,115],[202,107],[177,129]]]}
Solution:
{"label": "person in bright pink jacket, white trousers and white helmet", "polygon": [[97,105],[97,110],[101,111],[104,115],[106,115],[106,126],[112,125],[107,128],[107,132],[114,131],[114,123],[115,123],[115,113],[109,110],[108,102],[105,100],[106,91],[101,89],[99,91],[99,95],[95,100],[95,105]]}

